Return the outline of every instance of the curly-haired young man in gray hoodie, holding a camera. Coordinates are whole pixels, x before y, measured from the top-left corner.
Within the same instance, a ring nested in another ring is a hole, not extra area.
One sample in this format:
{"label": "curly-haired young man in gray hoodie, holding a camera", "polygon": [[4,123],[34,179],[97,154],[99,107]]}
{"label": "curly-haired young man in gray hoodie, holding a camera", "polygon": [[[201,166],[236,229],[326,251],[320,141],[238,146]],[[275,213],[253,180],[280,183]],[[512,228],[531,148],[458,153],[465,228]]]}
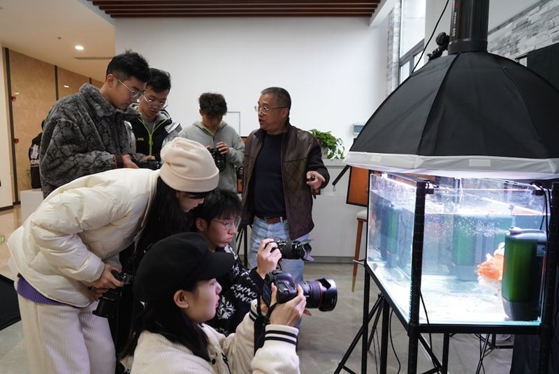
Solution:
{"label": "curly-haired young man in gray hoodie, holding a camera", "polygon": [[235,169],[242,166],[245,143],[237,131],[223,121],[227,103],[222,94],[205,92],[201,94],[198,103],[202,120],[183,129],[179,136],[197,141],[208,150],[213,150],[212,155],[217,159],[216,165],[219,168],[219,188],[237,192]]}

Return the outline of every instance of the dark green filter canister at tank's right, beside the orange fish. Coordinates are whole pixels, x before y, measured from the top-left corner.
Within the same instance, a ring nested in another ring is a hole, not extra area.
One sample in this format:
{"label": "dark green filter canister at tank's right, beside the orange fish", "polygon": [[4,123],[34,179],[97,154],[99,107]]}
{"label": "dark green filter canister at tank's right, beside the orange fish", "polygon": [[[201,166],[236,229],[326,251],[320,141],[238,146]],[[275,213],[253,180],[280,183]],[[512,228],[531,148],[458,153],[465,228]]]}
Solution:
{"label": "dark green filter canister at tank's right, beside the orange fish", "polygon": [[539,316],[546,233],[537,229],[511,227],[504,238],[502,305],[516,321]]}

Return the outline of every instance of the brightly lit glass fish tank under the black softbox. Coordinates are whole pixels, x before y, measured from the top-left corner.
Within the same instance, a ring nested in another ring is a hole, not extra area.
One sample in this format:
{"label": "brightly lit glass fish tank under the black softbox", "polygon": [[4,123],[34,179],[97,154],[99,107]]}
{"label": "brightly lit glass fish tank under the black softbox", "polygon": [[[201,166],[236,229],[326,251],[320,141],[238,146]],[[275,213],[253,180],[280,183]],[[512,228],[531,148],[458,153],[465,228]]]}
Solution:
{"label": "brightly lit glass fish tank under the black softbox", "polygon": [[[546,230],[546,190],[504,180],[429,178],[370,174],[367,266],[379,288],[409,321],[415,239],[422,245],[420,323],[539,325],[539,315],[530,321],[507,315],[501,283],[511,227]],[[424,200],[419,181],[428,182]]]}

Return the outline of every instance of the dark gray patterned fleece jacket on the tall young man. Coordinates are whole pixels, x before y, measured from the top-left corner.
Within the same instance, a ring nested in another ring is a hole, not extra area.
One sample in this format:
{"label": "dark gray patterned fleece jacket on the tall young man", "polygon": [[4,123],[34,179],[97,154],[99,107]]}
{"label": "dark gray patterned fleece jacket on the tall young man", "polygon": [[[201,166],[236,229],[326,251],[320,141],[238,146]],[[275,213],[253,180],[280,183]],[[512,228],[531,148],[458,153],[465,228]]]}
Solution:
{"label": "dark gray patterned fleece jacket on the tall young man", "polygon": [[84,175],[116,168],[115,154],[131,152],[124,121],[137,116],[136,110],[114,108],[88,83],[57,101],[41,139],[43,196]]}

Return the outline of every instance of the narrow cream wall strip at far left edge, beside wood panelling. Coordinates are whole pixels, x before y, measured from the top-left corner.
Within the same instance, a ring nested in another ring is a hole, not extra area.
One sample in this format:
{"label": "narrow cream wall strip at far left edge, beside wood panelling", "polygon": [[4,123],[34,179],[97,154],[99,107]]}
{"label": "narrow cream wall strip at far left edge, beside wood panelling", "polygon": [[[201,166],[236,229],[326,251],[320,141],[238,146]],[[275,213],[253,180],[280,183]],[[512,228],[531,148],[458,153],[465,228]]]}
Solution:
{"label": "narrow cream wall strip at far left edge, beside wood panelling", "polygon": [[10,131],[8,124],[7,86],[0,44],[0,208],[13,204],[13,182],[10,172]]}

